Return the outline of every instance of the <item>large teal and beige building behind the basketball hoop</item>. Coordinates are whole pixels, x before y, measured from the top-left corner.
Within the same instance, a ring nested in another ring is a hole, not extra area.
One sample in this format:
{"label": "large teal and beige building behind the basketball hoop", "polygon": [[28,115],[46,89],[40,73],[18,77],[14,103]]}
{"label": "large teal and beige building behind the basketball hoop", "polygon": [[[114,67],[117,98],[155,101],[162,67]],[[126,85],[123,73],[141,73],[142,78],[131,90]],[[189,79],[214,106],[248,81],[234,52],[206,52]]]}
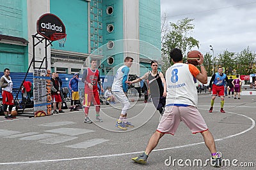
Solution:
{"label": "large teal and beige building behind the basketball hoop", "polygon": [[36,21],[45,13],[58,16],[67,33],[64,46],[52,41],[47,47],[44,43],[35,47],[36,60],[46,55],[52,72],[77,73],[90,66],[90,59],[97,59],[100,74],[113,75],[129,55],[134,58],[131,74],[140,76],[148,71],[152,59],[161,59],[160,0],[0,2],[0,69],[27,71]]}

